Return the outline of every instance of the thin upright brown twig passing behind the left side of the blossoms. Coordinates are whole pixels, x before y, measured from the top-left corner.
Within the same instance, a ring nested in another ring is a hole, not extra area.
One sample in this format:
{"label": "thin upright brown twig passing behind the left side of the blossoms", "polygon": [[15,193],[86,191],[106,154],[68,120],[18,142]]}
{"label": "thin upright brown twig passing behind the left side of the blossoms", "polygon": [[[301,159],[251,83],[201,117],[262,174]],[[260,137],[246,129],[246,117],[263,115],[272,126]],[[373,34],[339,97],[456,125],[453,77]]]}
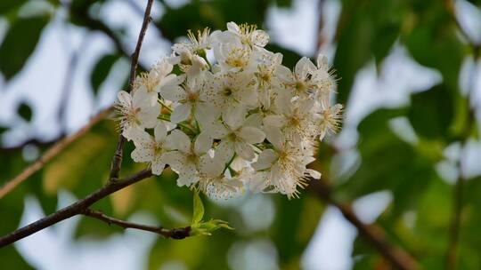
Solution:
{"label": "thin upright brown twig passing behind the left side of the blossoms", "polygon": [[[128,79],[128,91],[132,90],[135,82],[135,75],[137,70],[137,64],[139,62],[140,50],[143,44],[143,37],[147,32],[147,27],[149,26],[149,21],[151,20],[151,8],[153,0],[147,2],[145,7],[145,13],[143,14],[142,28],[137,39],[137,44],[135,45],[135,52],[132,54],[132,60],[130,63],[130,77]],[[118,136],[118,144],[115,154],[112,158],[112,163],[110,166],[110,180],[118,179],[118,173],[120,172],[120,166],[122,165],[122,155],[124,152],[124,145],[126,144],[126,138],[120,134]]]}

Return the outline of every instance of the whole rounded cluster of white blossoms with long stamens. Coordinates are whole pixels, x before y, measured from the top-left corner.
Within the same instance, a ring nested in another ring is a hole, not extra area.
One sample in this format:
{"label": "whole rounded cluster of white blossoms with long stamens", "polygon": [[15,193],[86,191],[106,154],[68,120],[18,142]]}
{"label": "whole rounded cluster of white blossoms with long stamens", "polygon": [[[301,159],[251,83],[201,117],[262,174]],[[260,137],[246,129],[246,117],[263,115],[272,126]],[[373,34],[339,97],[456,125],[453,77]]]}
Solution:
{"label": "whole rounded cluster of white blossoms with long stamens", "polygon": [[178,186],[224,198],[245,190],[292,197],[319,179],[306,165],[342,109],[330,105],[335,78],[326,58],[314,65],[303,57],[291,71],[281,53],[264,48],[265,31],[234,22],[188,37],[139,75],[133,91],[118,93],[134,161],[156,175],[168,165]]}

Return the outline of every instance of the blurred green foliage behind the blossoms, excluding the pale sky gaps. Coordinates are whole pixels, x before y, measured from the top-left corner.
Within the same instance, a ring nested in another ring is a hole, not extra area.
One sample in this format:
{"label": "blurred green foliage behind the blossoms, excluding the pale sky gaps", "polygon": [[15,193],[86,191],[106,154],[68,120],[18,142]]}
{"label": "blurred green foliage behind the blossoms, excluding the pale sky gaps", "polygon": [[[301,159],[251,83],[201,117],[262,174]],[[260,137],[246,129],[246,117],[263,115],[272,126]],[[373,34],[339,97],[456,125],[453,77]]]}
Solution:
{"label": "blurred green foliage behind the blossoms, excluding the pale sky gaps", "polygon": [[[48,14],[29,18],[19,16],[20,7],[27,1],[0,2],[0,15],[9,28],[0,44],[0,71],[5,83],[17,75],[36,49],[39,36],[52,19]],[[54,0],[46,1],[53,9],[61,8]],[[93,31],[102,29],[96,23],[99,5],[107,1],[73,0],[69,7],[69,23]],[[159,4],[162,1],[159,1]],[[336,198],[352,202],[362,195],[389,190],[394,200],[377,222],[388,238],[408,250],[426,269],[444,267],[448,244],[448,229],[452,216],[453,186],[440,179],[436,163],[444,160],[443,150],[454,142],[477,138],[474,113],[469,99],[461,95],[459,75],[461,63],[467,57],[477,58],[479,48],[461,35],[453,18],[449,1],[438,0],[342,0],[335,42],[337,53],[333,67],[342,77],[338,82],[338,101],[349,101],[355,75],[371,60],[381,67],[393,45],[404,44],[412,58],[420,65],[432,67],[443,76],[442,83],[428,91],[412,94],[404,107],[381,108],[363,119],[358,126],[357,150],[362,162],[347,179],[330,178],[330,161],[336,149],[322,144],[319,160],[314,166],[330,179]],[[479,5],[477,1],[472,1]],[[227,21],[255,23],[265,26],[266,9],[272,4],[291,8],[289,0],[211,0],[192,1],[180,8],[169,8],[158,21],[168,40],[184,36],[187,29],[224,28]],[[65,7],[62,7],[65,8]],[[86,14],[94,20],[86,20]],[[112,29],[122,39],[122,29]],[[300,58],[297,52],[272,44],[271,49],[284,54],[284,64],[292,67]],[[110,74],[113,64],[125,58],[120,52],[102,56],[92,72],[92,91],[96,93]],[[122,78],[126,80],[126,78]],[[39,86],[39,90],[42,87]],[[47,91],[47,90],[42,90]],[[30,121],[29,104],[21,104],[18,113]],[[417,143],[408,143],[393,131],[388,123],[395,117],[409,119]],[[0,132],[7,131],[6,127]],[[115,124],[104,121],[82,139],[37,172],[26,183],[0,200],[0,234],[14,230],[20,221],[25,195],[36,195],[46,213],[53,212],[57,191],[66,188],[77,197],[90,194],[108,179],[110,158],[115,149]],[[44,150],[51,143],[40,145]],[[126,156],[132,146],[127,144]],[[0,150],[0,185],[12,179],[29,163],[23,159],[22,149]],[[142,165],[124,159],[122,174],[142,169]],[[459,269],[481,269],[481,179],[469,179],[464,185],[461,212],[461,239]],[[235,231],[219,230],[213,236],[200,236],[183,241],[159,238],[151,252],[150,269],[159,269],[165,261],[182,260],[192,269],[225,269],[228,267],[227,250],[234,242],[268,238],[275,244],[282,269],[299,268],[300,258],[306,250],[314,230],[322,218],[325,204],[314,194],[303,192],[297,200],[288,201],[281,195],[269,195],[275,205],[275,218],[269,228],[250,232],[240,218],[240,210],[221,206],[204,198],[206,216],[229,221]],[[247,200],[242,198],[240,200]],[[192,192],[175,185],[175,176],[165,173],[128,187],[110,198],[95,204],[95,209],[118,218],[128,218],[137,210],[147,210],[163,226],[184,226],[192,213]],[[172,214],[172,210],[176,214]],[[405,222],[407,213],[416,215],[415,222]],[[181,218],[179,218],[181,217]],[[104,226],[96,220],[82,218],[76,237],[98,237],[121,234],[113,226]],[[355,240],[355,269],[384,269],[386,262],[376,250]],[[213,259],[215,258],[215,259]],[[29,266],[11,246],[0,250],[0,264],[4,269],[29,269]]]}

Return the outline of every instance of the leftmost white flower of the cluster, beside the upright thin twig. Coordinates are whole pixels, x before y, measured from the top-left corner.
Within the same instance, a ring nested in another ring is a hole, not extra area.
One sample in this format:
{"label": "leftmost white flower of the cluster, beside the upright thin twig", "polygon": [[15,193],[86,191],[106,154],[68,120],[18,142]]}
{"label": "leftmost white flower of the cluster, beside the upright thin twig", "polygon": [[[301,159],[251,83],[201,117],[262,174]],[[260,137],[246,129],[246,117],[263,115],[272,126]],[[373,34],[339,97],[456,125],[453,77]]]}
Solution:
{"label": "leftmost white flower of the cluster, beside the upright thin twig", "polygon": [[132,139],[132,131],[153,128],[160,113],[159,104],[152,104],[151,97],[145,88],[138,89],[134,93],[119,91],[115,108],[119,115],[122,135],[126,139]]}

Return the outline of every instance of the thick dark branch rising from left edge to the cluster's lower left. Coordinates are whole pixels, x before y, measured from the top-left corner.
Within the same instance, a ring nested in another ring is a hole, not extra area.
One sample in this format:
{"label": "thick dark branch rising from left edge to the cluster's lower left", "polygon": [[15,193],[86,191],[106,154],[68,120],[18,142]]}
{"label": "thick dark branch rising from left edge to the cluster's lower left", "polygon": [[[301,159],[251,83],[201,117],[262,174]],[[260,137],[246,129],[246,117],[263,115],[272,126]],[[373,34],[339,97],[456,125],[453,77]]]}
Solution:
{"label": "thick dark branch rising from left edge to the cluster's lower left", "polygon": [[98,202],[102,198],[110,195],[124,187],[128,187],[136,182],[151,177],[151,170],[146,169],[139,171],[134,175],[126,177],[125,179],[118,180],[117,182],[110,182],[108,185],[101,187],[93,194],[86,196],[84,199],[78,200],[76,203],[72,203],[69,206],[62,208],[54,212],[53,214],[41,218],[28,226],[23,226],[20,229],[12,232],[11,234],[4,235],[0,238],[0,248],[11,244],[12,242],[19,241],[22,238],[29,236],[30,234],[35,234],[40,230],[45,229],[48,226],[53,226],[62,220],[71,218],[73,216],[82,214],[87,208],[92,204]]}

